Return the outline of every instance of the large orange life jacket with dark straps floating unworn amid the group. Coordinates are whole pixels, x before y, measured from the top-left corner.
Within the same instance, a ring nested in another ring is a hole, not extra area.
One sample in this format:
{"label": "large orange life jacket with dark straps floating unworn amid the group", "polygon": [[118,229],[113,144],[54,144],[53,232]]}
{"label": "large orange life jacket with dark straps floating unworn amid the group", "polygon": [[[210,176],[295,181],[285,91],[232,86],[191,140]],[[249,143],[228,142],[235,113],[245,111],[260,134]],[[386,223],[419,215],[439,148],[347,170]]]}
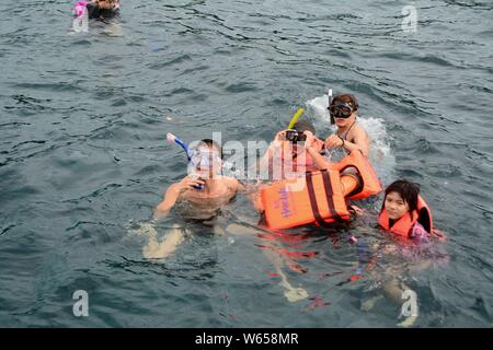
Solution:
{"label": "large orange life jacket with dark straps floating unworn amid the group", "polygon": [[[341,172],[353,166],[362,186],[344,194]],[[366,198],[381,191],[380,180],[359,151],[352,152],[328,170],[307,172],[305,177],[285,179],[261,190],[265,220],[271,229],[288,229],[309,223],[324,225],[349,220],[346,198]]]}

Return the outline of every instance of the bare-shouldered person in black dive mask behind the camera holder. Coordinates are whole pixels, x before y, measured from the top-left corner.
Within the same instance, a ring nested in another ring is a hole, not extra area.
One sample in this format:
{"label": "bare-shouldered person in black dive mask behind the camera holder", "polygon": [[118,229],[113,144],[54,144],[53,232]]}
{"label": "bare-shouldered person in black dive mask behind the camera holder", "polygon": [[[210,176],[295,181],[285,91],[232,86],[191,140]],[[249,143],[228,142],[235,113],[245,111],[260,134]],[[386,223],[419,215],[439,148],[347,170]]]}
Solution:
{"label": "bare-shouldered person in black dive mask behind the camera holder", "polygon": [[326,149],[342,148],[347,153],[359,150],[368,156],[370,139],[368,133],[356,121],[358,102],[351,94],[340,94],[332,100],[328,107],[331,115],[331,124],[336,125],[337,130],[325,140]]}

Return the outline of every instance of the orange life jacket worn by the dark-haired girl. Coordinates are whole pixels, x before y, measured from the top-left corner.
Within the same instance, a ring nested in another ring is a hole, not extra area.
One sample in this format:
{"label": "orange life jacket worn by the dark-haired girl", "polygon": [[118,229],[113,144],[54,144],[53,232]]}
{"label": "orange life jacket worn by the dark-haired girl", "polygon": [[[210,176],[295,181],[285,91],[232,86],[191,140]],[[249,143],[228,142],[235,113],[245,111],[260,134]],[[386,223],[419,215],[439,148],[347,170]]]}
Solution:
{"label": "orange life jacket worn by the dark-haired girl", "polygon": [[398,236],[408,238],[411,228],[417,222],[420,222],[423,228],[429,233],[433,233],[433,218],[432,211],[424,201],[424,199],[417,197],[417,210],[413,211],[413,215],[406,212],[401,219],[394,222],[392,226],[389,224],[389,215],[387,210],[382,210],[378,215],[378,224],[382,226],[386,231],[390,231]]}

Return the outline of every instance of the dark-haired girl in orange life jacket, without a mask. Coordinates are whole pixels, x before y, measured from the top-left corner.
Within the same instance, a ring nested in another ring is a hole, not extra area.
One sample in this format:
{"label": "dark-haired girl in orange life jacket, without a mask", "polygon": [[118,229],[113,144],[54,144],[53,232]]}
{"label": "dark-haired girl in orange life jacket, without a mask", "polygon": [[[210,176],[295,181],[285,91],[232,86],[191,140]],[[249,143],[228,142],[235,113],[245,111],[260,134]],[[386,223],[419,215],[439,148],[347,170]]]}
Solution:
{"label": "dark-haired girl in orange life jacket, without a mask", "polygon": [[420,196],[420,187],[405,179],[392,183],[386,189],[378,224],[386,231],[415,243],[429,242],[433,229],[432,212]]}

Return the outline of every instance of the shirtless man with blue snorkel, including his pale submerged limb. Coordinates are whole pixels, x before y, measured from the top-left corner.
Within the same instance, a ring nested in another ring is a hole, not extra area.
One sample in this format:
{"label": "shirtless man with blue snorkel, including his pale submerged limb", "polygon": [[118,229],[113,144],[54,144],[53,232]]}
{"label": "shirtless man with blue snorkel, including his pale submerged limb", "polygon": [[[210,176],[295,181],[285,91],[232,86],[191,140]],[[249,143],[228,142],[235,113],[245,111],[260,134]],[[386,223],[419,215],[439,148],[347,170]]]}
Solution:
{"label": "shirtless man with blue snorkel, including his pale submerged limb", "polygon": [[[243,188],[236,178],[220,175],[221,168],[220,145],[210,139],[202,140],[190,154],[191,174],[168,188],[153,211],[153,219],[164,218],[174,207],[180,207],[180,214],[185,219],[206,221],[217,217],[221,207]],[[182,230],[172,230],[162,242],[158,241],[153,225],[145,225],[144,231],[148,242],[142,252],[149,259],[168,257],[184,238]]]}

